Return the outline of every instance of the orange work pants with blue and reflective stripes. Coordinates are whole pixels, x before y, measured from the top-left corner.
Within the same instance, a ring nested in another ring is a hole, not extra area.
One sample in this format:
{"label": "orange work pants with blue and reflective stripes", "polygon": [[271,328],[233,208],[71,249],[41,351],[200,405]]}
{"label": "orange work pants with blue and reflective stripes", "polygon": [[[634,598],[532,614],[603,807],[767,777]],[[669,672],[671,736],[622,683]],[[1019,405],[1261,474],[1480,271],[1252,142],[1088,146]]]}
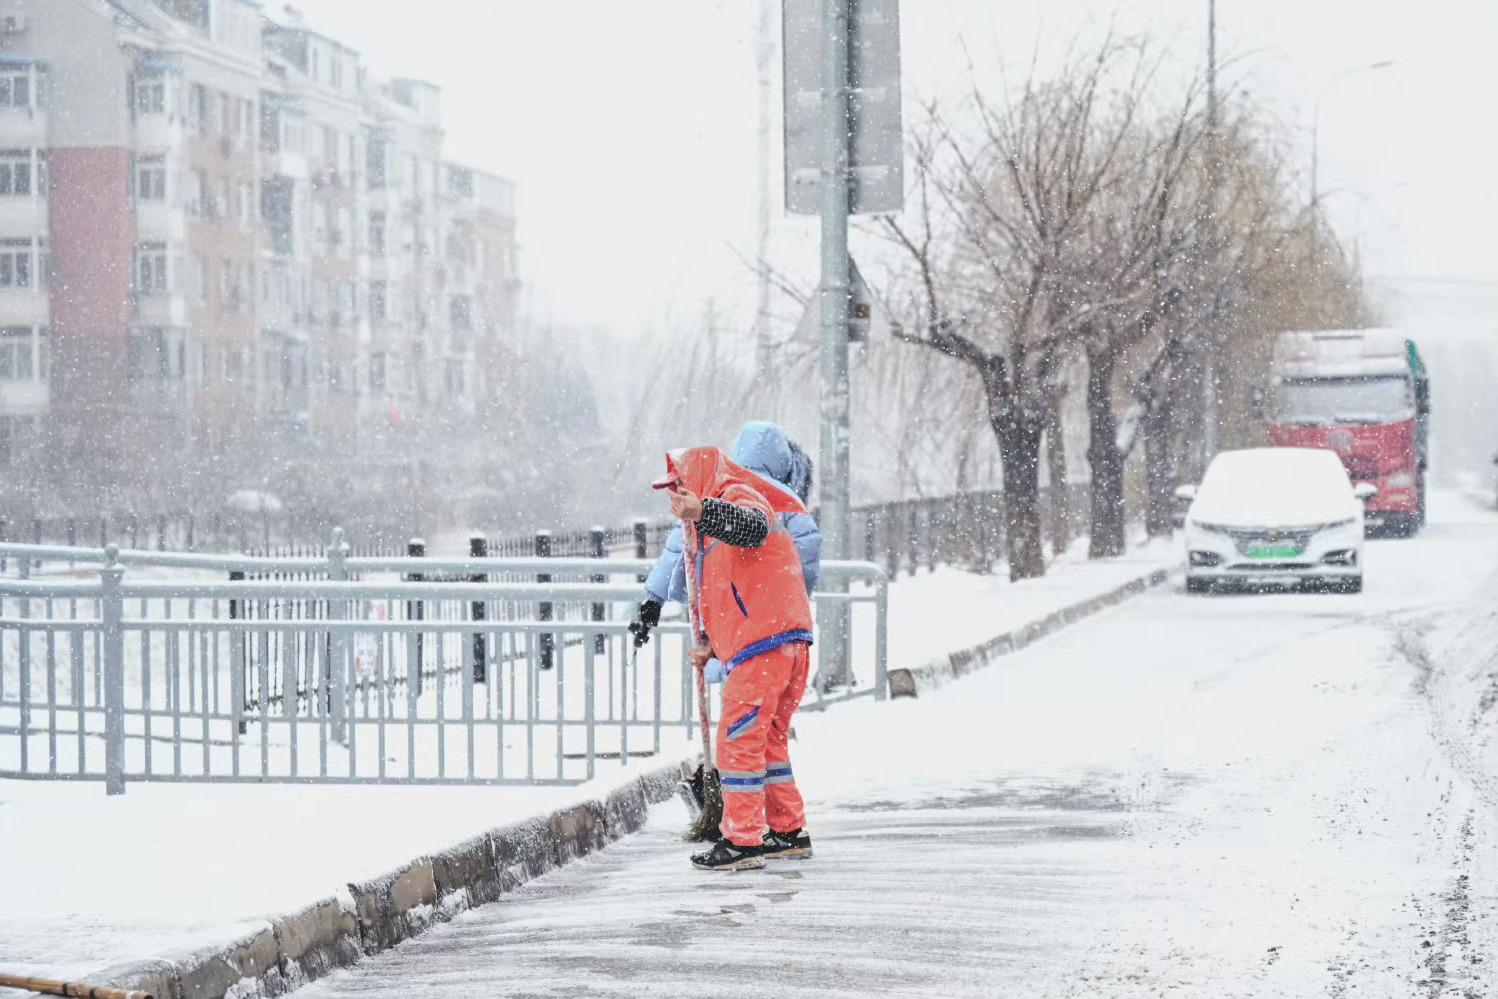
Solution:
{"label": "orange work pants with blue and reflective stripes", "polygon": [[724,681],[718,722],[718,774],[724,785],[724,837],[739,846],[764,842],[806,824],[806,806],[791,774],[789,732],[806,692],[810,646],[795,641],[742,662]]}

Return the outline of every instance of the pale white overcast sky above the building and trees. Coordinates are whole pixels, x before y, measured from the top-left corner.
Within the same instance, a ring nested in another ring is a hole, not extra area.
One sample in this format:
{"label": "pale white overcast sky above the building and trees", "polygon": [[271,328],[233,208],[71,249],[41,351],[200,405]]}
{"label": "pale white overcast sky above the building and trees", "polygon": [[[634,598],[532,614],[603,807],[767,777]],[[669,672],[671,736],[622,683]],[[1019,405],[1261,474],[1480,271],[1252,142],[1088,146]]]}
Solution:
{"label": "pale white overcast sky above the building and trees", "polygon": [[[746,307],[755,219],[758,0],[301,0],[380,75],[443,87],[449,151],[518,183],[527,309],[631,334],[703,303]],[[279,1],[268,3],[274,12]],[[1204,61],[1207,0],[905,0],[906,109],[1079,31],[1149,31]],[[1219,57],[1293,130],[1321,190],[1396,294],[1498,292],[1498,3],[1218,0]],[[776,78],[779,69],[774,70]],[[774,145],[779,156],[779,93]],[[776,180],[779,165],[776,165]],[[815,226],[776,202],[776,249]],[[1411,282],[1408,279],[1419,279]],[[1398,307],[1398,303],[1396,303]]]}

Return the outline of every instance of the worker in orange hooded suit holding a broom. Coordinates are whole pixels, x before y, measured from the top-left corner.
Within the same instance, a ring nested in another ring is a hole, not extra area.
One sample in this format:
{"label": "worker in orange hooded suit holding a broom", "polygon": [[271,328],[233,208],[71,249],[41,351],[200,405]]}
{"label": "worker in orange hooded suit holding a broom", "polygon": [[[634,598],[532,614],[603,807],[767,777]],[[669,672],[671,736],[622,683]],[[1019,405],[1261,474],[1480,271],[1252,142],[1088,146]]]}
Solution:
{"label": "worker in orange hooded suit holding a broom", "polygon": [[716,659],[727,677],[716,743],[722,839],[692,864],[745,870],[810,857],[788,743],[806,692],[812,605],[780,520],[806,508],[718,448],[673,451],[655,487],[670,490],[671,512],[685,526],[700,632],[692,664],[701,669]]}

